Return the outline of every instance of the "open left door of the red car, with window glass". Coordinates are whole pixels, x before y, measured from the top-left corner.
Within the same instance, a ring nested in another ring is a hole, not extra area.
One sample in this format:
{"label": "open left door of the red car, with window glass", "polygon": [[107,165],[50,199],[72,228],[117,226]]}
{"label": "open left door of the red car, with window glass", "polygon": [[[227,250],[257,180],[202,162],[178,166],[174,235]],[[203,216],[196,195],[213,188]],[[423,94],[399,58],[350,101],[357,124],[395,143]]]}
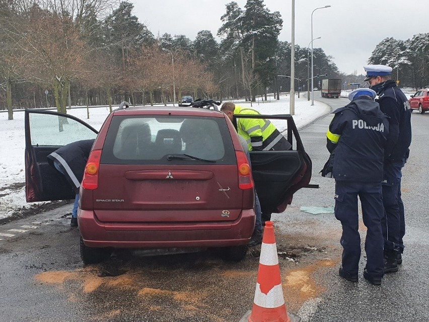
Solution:
{"label": "open left door of the red car, with window glass", "polygon": [[68,143],[95,139],[98,131],[75,116],[25,110],[25,196],[27,202],[75,199],[65,177],[47,156]]}

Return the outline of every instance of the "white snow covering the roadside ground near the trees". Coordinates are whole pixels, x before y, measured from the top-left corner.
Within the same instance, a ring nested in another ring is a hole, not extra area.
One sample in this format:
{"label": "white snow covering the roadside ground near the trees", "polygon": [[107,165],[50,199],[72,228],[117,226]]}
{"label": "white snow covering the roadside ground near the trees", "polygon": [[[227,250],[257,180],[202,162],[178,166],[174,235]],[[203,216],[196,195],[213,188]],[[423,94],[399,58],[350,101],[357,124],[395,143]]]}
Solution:
{"label": "white snow covering the roadside ground near the trees", "polygon": [[[243,101],[234,103],[250,107],[250,103]],[[289,106],[289,95],[281,95],[279,101],[274,100],[272,96],[266,102],[258,98],[257,102],[253,103],[252,108],[261,114],[271,115],[289,114]],[[311,106],[311,101],[307,101],[306,97],[301,96],[298,99],[298,96],[295,96],[294,120],[298,128],[329,112],[329,107],[324,103],[314,101],[314,106]],[[105,106],[90,108],[89,119],[87,119],[85,108],[72,108],[67,110],[67,113],[82,119],[99,130],[109,114],[109,108]],[[285,127],[284,121],[282,124],[278,122],[278,120],[274,121],[281,131]],[[13,120],[8,120],[8,113],[0,113],[0,132],[2,133],[0,140],[0,219],[2,219],[10,217],[18,209],[31,206],[25,200],[25,187],[20,190],[13,188],[16,184],[24,185],[25,183],[24,112],[15,110]]]}

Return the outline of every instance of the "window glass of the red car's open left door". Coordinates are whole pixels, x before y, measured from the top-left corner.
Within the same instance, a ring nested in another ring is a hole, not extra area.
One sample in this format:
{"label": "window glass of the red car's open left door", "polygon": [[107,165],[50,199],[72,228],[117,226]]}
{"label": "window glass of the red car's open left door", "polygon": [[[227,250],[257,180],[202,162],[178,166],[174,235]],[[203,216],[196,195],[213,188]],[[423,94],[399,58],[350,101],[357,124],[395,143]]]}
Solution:
{"label": "window glass of the red car's open left door", "polygon": [[66,116],[30,113],[29,118],[31,145],[66,145],[97,137],[92,129]]}

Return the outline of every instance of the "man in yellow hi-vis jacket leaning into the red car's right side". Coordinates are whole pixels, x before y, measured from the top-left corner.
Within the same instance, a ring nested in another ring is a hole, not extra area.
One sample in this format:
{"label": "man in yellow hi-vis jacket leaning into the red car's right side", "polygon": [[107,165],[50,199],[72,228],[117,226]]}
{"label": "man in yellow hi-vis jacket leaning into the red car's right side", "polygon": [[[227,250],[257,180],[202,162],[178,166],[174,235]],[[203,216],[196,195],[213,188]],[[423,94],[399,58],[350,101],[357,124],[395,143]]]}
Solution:
{"label": "man in yellow hi-vis jacket leaning into the red car's right side", "polygon": [[[234,114],[260,115],[256,110],[235,105],[232,102],[222,104],[221,112],[225,113],[234,123]],[[243,136],[249,151],[290,150],[292,145],[269,120],[237,118],[238,134]]]}

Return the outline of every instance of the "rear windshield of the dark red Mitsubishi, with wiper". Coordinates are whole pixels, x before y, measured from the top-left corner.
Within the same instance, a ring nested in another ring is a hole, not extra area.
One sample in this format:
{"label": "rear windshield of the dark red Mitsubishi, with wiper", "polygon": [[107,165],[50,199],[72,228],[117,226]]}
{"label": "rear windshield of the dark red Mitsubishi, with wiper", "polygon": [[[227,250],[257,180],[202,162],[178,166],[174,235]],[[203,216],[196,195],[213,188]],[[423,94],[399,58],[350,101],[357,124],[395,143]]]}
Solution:
{"label": "rear windshield of the dark red Mitsubishi, with wiper", "polygon": [[114,116],[102,164],[235,164],[224,118]]}

